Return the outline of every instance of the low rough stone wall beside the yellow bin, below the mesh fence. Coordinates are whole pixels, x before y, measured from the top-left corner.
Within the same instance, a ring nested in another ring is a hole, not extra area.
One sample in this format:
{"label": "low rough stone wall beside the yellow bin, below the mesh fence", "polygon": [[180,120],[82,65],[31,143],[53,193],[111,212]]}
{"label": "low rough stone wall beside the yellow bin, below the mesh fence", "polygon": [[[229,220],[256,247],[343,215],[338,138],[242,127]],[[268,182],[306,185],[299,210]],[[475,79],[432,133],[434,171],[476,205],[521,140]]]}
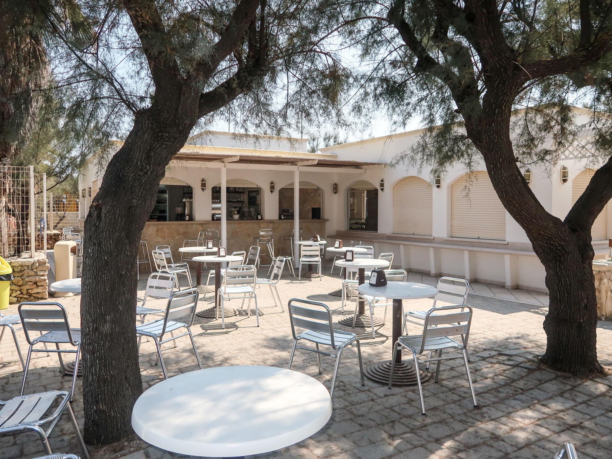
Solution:
{"label": "low rough stone wall beside the yellow bin, below the mesh fence", "polygon": [[15,276],[10,283],[9,303],[48,299],[49,264],[45,252],[35,252],[34,258],[7,258],[7,261]]}

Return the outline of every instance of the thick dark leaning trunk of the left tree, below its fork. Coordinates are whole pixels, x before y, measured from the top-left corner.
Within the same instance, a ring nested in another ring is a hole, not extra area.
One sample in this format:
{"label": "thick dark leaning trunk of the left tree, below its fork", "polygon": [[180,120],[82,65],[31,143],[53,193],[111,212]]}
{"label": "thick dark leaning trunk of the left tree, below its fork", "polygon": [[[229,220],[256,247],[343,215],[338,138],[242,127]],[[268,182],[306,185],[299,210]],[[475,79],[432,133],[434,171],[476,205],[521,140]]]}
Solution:
{"label": "thick dark leaning trunk of the left tree, below its fork", "polygon": [[142,392],[135,332],[138,243],[166,165],[195,124],[188,112],[174,112],[182,113],[181,120],[165,119],[154,108],[136,116],[85,220],[83,405],[84,436],[91,444],[132,433],[132,408]]}

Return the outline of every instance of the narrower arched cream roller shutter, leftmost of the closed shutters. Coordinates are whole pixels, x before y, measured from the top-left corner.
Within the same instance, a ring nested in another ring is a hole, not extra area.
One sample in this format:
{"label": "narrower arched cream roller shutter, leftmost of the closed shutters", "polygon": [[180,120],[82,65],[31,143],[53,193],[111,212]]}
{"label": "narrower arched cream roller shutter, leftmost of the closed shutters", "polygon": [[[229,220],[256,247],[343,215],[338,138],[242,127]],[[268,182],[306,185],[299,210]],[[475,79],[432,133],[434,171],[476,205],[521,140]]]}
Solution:
{"label": "narrower arched cream roller shutter, leftmost of the closed shutters", "polygon": [[406,177],[393,187],[393,232],[431,236],[433,187],[420,177]]}

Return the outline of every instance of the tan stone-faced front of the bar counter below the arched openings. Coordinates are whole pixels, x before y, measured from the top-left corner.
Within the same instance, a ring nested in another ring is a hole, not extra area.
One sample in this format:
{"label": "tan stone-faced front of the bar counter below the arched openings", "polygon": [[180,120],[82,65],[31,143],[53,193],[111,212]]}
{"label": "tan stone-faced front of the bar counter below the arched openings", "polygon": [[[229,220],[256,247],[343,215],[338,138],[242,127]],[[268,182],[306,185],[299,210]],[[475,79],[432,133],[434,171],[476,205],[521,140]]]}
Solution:
{"label": "tan stone-faced front of the bar counter below the arched openings", "polygon": [[[300,228],[304,229],[304,239],[310,239],[315,234],[325,237],[325,225],[327,220],[302,220]],[[280,253],[280,241],[283,236],[291,236],[293,231],[293,220],[239,220],[228,221],[228,253],[238,250],[248,251],[253,245],[253,237],[259,230],[272,228],[274,231],[274,250]],[[221,222],[147,222],[144,225],[143,241],[147,242],[149,252],[157,245],[170,245],[174,261],[181,258],[179,247],[183,246],[185,239],[196,239],[198,231],[217,230],[221,231]],[[285,244],[284,251],[289,250],[289,244]],[[263,252],[263,248],[262,248]]]}

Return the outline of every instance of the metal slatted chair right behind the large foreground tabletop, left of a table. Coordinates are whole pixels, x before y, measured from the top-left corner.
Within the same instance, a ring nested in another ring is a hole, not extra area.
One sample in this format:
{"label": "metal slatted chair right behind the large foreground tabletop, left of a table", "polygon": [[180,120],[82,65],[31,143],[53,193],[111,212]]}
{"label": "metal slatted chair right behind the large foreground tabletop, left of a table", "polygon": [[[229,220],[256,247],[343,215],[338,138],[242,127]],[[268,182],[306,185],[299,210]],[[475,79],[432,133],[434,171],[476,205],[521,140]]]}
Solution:
{"label": "metal slatted chair right behind the large foreground tabletop, left of a table", "polygon": [[[294,303],[304,304],[311,307],[295,305]],[[330,397],[334,397],[334,387],[336,384],[336,376],[338,375],[338,365],[340,365],[340,355],[347,346],[357,343],[357,357],[359,357],[359,375],[361,376],[361,385],[365,386],[364,380],[364,365],[361,360],[361,346],[357,335],[354,333],[334,330],[332,326],[332,313],[326,304],[310,300],[300,300],[291,298],[289,300],[289,323],[291,323],[291,334],[293,335],[293,349],[291,349],[291,357],[289,357],[288,369],[291,370],[293,357],[296,349],[303,349],[316,353],[316,361],[319,366],[319,375],[323,373],[321,368],[321,356],[335,357],[334,376],[332,377],[332,387],[329,390]],[[312,308],[315,306],[316,308]],[[299,335],[296,334],[296,327],[305,329]],[[315,343],[315,349],[300,346],[297,341],[310,341]],[[330,346],[331,352],[321,351],[321,346]],[[334,352],[335,351],[335,352]]]}

